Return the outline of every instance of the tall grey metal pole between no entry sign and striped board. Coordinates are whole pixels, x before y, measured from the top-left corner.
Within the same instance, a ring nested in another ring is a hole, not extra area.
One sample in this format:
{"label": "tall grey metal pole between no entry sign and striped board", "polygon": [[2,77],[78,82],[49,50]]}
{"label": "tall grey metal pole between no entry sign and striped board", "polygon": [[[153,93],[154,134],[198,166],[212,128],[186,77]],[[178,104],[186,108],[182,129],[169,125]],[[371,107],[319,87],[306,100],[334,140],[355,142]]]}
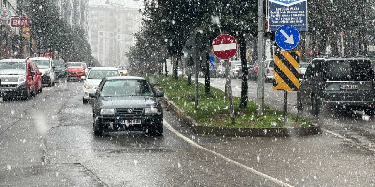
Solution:
{"label": "tall grey metal pole between no entry sign and striped board", "polygon": [[264,65],[263,65],[263,0],[258,0],[258,108],[257,117],[263,116],[264,105]]}

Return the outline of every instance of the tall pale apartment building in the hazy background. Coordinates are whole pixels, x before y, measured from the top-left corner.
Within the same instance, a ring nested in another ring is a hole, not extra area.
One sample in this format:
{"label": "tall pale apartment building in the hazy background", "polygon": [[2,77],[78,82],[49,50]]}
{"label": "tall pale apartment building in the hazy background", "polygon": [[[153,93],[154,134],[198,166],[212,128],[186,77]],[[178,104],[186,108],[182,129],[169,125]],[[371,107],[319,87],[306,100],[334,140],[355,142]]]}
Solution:
{"label": "tall pale apartment building in the hazy background", "polygon": [[89,43],[92,55],[103,65],[126,64],[124,54],[135,42],[132,33],[141,26],[138,9],[108,1],[89,6]]}

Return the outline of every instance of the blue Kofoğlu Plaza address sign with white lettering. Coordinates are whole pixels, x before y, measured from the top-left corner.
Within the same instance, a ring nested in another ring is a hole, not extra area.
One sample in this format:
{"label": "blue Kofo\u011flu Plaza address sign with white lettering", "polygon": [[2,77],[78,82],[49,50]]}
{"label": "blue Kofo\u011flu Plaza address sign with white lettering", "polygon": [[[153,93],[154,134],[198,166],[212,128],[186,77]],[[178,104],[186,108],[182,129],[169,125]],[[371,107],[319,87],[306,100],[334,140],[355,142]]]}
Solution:
{"label": "blue Kofo\u011flu Plaza address sign with white lettering", "polygon": [[293,25],[299,31],[307,31],[307,0],[269,0],[270,31],[282,25]]}

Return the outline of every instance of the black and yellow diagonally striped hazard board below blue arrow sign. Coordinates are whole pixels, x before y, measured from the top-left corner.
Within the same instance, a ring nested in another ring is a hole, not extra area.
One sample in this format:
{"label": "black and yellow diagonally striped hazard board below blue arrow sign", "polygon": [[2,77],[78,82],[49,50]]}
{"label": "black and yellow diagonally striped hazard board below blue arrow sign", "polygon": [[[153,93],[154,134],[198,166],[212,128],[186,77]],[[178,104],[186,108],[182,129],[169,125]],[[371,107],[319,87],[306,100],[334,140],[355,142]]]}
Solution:
{"label": "black and yellow diagonally striped hazard board below blue arrow sign", "polygon": [[298,91],[300,75],[297,69],[300,67],[300,52],[276,51],[273,58],[273,89]]}

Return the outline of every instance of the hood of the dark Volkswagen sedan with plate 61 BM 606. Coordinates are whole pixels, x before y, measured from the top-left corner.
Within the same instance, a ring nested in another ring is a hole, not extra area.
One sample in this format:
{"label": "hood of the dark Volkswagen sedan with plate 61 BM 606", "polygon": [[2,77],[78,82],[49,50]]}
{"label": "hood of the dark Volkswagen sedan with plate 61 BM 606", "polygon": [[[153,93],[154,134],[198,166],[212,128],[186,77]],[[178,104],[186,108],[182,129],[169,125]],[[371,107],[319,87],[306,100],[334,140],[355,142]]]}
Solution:
{"label": "hood of the dark Volkswagen sedan with plate 61 BM 606", "polygon": [[157,98],[150,96],[103,97],[102,108],[157,107]]}

